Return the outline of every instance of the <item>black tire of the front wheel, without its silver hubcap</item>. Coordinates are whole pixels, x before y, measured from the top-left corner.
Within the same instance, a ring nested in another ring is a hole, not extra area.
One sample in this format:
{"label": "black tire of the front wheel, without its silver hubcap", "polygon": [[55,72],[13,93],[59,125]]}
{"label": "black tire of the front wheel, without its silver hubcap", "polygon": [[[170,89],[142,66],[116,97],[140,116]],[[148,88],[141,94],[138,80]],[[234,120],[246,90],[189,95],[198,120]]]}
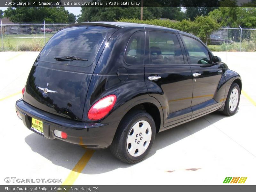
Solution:
{"label": "black tire of the front wheel, without its silver hubcap", "polygon": [[[236,108],[232,111],[232,110],[230,110],[230,107],[229,107],[229,100],[232,99],[232,98],[230,98],[230,95],[231,95],[231,93],[232,93],[232,91],[233,91],[234,89],[237,89],[237,91],[238,91],[238,102],[237,102]],[[232,115],[234,115],[234,114],[236,113],[237,108],[238,108],[238,105],[239,105],[239,102],[240,102],[240,94],[241,94],[241,92],[240,92],[239,85],[236,84],[236,83],[233,83],[233,84],[230,86],[230,88],[229,88],[228,96],[227,96],[227,99],[226,99],[226,101],[225,101],[225,107],[224,107],[223,111],[221,111],[221,113],[222,113],[223,115],[232,116]]]}

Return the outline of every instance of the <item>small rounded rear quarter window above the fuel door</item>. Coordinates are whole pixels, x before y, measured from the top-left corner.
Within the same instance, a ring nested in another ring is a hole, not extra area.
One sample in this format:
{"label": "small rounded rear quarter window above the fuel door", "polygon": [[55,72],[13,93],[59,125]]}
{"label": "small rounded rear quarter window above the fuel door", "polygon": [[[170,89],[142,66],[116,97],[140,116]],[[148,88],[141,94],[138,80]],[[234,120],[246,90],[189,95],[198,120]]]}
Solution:
{"label": "small rounded rear quarter window above the fuel door", "polygon": [[145,31],[132,35],[125,52],[124,60],[129,65],[143,65],[145,47]]}

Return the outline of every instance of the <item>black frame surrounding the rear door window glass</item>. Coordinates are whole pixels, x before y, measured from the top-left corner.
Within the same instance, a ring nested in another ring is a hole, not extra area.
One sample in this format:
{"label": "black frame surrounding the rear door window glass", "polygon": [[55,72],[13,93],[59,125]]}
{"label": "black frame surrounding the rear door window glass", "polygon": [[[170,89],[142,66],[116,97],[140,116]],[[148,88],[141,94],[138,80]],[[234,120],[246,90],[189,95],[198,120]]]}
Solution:
{"label": "black frame surrounding the rear door window glass", "polygon": [[[182,47],[182,45],[181,45],[182,42],[180,42],[178,33],[169,32],[169,31],[157,31],[157,30],[147,30],[147,32],[148,32],[147,33],[148,34],[148,39],[147,39],[148,40],[148,42],[147,42],[148,43],[148,47],[147,48],[148,48],[149,57],[148,57],[148,64],[145,64],[145,66],[184,66],[184,65],[188,65],[188,63],[185,61],[186,58],[185,58],[185,53],[184,53],[184,50],[183,50],[183,49],[185,49],[185,47],[184,46]],[[150,49],[150,46],[149,46],[150,36],[149,36],[149,33],[150,32],[168,33],[168,34],[175,35],[177,37],[177,41],[178,41],[178,43],[180,45],[180,51],[181,51],[184,63],[183,64],[165,64],[165,65],[164,64],[162,64],[162,65],[149,64],[149,60],[150,60],[150,50],[149,50]],[[146,47],[145,47],[145,49],[146,49]]]}

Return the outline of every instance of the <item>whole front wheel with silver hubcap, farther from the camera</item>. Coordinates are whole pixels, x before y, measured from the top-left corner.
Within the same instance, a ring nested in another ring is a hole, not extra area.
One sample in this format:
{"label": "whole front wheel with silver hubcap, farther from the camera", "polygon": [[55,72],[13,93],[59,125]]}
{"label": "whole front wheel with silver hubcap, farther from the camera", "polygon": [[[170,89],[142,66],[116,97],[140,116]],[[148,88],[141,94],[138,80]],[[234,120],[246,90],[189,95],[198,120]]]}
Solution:
{"label": "whole front wheel with silver hubcap, farther from the camera", "polygon": [[237,111],[239,101],[240,101],[240,88],[238,84],[233,83],[229,89],[224,110],[221,113],[227,116],[234,115]]}

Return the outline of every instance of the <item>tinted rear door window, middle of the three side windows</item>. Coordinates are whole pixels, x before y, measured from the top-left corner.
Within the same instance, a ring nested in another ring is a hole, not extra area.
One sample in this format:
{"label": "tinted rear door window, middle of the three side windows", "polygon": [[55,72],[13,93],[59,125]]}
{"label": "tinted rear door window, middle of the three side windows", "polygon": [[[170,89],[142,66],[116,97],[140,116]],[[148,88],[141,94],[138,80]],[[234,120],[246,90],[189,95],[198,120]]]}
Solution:
{"label": "tinted rear door window, middle of the three side windows", "polygon": [[149,31],[149,64],[184,64],[176,34]]}

